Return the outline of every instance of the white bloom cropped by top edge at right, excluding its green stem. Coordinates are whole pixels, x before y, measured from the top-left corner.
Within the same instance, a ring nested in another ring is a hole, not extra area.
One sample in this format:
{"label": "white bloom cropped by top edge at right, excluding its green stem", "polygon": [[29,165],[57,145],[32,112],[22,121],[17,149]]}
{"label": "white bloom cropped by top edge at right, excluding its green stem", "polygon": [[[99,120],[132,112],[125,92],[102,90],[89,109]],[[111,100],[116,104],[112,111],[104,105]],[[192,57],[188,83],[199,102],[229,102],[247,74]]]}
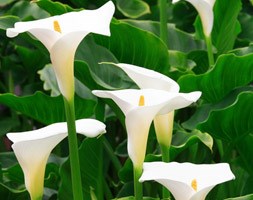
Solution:
{"label": "white bloom cropped by top edge at right, excluding its green stem", "polygon": [[[180,0],[172,0],[176,3]],[[186,0],[198,11],[205,36],[209,37],[213,29],[213,6],[215,0]]]}

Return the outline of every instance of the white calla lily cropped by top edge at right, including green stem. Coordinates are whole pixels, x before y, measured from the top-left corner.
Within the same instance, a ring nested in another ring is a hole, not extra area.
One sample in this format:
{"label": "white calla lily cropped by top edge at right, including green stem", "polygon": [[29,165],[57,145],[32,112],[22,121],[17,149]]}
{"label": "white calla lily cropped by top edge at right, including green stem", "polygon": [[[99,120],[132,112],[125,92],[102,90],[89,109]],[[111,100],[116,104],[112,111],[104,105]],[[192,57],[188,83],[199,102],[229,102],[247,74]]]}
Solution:
{"label": "white calla lily cropped by top edge at right, including green stem", "polygon": [[[172,3],[176,3],[178,1],[180,0],[172,0]],[[214,21],[213,6],[215,4],[215,0],[186,0],[186,1],[191,3],[199,13],[202,22],[203,32],[206,39],[209,65],[212,66],[214,64],[214,58],[212,52],[211,32],[213,29],[213,21]]]}

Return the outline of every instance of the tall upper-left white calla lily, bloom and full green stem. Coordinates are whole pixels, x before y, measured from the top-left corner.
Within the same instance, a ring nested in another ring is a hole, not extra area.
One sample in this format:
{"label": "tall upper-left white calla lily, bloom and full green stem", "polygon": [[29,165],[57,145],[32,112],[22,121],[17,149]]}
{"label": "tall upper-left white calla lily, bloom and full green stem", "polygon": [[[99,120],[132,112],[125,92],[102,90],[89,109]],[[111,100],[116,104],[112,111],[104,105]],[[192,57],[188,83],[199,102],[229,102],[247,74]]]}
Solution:
{"label": "tall upper-left white calla lily, bloom and full green stem", "polygon": [[74,106],[74,56],[82,39],[89,34],[110,35],[110,21],[115,7],[109,1],[97,10],[70,12],[30,22],[17,22],[7,29],[7,36],[29,32],[50,53],[53,69],[62,95],[68,124],[68,141],[74,200],[82,200],[82,183],[78,156]]}

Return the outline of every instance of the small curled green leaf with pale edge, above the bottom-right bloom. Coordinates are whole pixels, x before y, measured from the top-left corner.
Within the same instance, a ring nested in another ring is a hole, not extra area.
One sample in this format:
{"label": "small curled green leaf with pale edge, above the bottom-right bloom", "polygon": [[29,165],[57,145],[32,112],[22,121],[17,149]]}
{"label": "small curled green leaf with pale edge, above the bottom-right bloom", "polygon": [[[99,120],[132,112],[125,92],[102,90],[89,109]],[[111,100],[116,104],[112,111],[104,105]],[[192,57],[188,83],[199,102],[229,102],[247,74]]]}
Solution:
{"label": "small curled green leaf with pale edge, above the bottom-right bloom", "polygon": [[212,151],[213,138],[208,133],[202,133],[196,129],[192,132],[186,132],[185,130],[177,131],[172,138],[172,145],[170,147],[171,157],[175,158],[180,152],[198,142],[202,142]]}

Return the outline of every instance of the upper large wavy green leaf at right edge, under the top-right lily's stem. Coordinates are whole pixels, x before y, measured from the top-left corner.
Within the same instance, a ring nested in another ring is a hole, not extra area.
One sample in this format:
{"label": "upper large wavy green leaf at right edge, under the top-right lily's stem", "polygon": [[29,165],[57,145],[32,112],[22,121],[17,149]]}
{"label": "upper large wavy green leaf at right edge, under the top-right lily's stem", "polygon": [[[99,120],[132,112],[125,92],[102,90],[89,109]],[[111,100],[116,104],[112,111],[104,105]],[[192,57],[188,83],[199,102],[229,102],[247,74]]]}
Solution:
{"label": "upper large wavy green leaf at right edge, under the top-right lily's stem", "polygon": [[202,91],[202,98],[208,102],[218,102],[237,87],[253,81],[253,54],[236,56],[222,55],[214,68],[201,75],[182,76],[178,83],[181,91]]}

